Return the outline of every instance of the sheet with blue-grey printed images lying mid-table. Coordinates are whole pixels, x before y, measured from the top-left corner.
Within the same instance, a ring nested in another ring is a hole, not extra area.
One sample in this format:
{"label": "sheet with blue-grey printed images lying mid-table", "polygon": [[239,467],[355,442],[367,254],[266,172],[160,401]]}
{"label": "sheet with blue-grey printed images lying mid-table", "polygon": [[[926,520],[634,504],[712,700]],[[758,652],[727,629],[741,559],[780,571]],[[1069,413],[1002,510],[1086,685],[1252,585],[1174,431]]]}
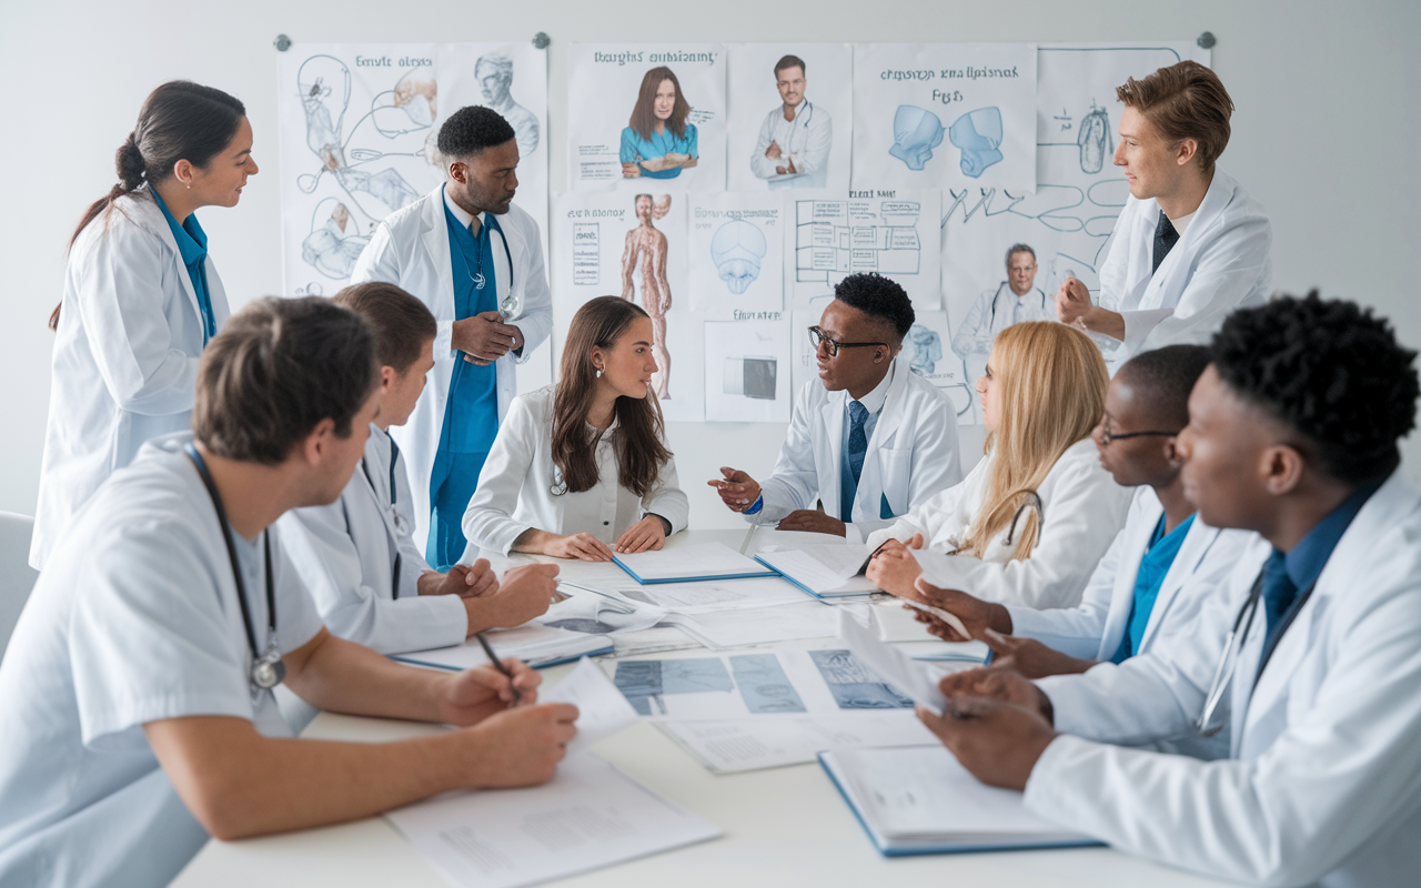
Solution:
{"label": "sheet with blue-grey printed images lying mid-table", "polygon": [[642,716],[737,719],[912,709],[847,649],[624,659],[612,681]]}

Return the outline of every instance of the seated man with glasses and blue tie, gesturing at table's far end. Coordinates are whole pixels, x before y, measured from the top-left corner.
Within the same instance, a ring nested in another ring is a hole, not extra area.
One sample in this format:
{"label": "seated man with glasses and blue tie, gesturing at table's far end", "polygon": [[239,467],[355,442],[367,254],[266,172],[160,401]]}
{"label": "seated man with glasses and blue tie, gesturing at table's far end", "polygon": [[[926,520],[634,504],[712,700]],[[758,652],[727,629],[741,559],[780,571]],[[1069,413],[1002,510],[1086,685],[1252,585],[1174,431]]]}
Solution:
{"label": "seated man with glasses and blue tie, gesturing at table's far end", "polygon": [[912,303],[892,280],[840,281],[809,328],[818,382],[794,399],[774,473],[762,487],[722,466],[723,477],[706,482],[720,500],[755,524],[861,543],[962,480],[952,404],[897,358],[912,321]]}

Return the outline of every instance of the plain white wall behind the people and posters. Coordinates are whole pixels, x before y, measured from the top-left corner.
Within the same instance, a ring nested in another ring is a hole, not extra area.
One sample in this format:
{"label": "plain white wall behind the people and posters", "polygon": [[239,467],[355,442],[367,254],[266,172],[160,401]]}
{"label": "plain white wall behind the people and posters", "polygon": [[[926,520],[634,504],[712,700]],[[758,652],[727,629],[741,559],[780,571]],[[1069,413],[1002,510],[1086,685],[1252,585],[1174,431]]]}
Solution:
{"label": "plain white wall behind the people and posters", "polygon": [[[783,10],[783,11],[780,11]],[[904,0],[816,0],[764,4],[661,4],[628,0],[489,3],[479,0],[342,0],[341,3],[0,0],[0,129],[6,209],[0,217],[0,510],[33,513],[48,409],[50,348],[44,328],[58,300],[64,247],[84,207],[114,183],[114,151],[144,97],[171,78],[220,87],[242,98],[256,131],[261,173],[242,205],[202,215],[233,307],[280,284],[276,71],[271,40],[526,40],[549,50],[554,159],[567,134],[567,44],[600,40],[948,41],[1184,40],[1212,31],[1214,68],[1238,111],[1222,165],[1269,209],[1276,283],[1322,287],[1376,305],[1401,338],[1421,345],[1412,263],[1421,256],[1421,3],[1192,0],[1015,0],[971,4]],[[567,186],[554,161],[553,190]],[[732,463],[767,473],[779,425],[671,428],[696,526],[735,526],[701,484]],[[976,452],[980,438],[966,436]],[[1408,465],[1421,465],[1417,436]]]}

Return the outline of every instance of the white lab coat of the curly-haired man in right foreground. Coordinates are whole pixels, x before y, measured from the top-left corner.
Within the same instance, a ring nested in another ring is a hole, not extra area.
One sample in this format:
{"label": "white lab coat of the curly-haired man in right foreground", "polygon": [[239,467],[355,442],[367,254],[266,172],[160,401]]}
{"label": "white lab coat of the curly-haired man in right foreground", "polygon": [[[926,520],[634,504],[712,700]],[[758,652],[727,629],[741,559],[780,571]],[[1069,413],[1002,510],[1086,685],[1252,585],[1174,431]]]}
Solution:
{"label": "white lab coat of the curly-haired man in right foreground", "polygon": [[[1259,547],[1266,556],[1268,546]],[[1262,558],[1231,575],[1232,625]],[[1205,632],[1208,629],[1208,632]],[[1161,672],[1117,705],[1169,715],[1209,668]],[[1141,857],[1265,885],[1410,885],[1421,872],[1421,492],[1394,473],[1347,527],[1253,688],[1265,619],[1232,682],[1232,754],[1196,762],[1056,739],[1026,804]],[[1141,658],[1148,659],[1148,658]],[[1181,688],[1184,686],[1184,688]],[[1053,698],[1054,702],[1054,698]],[[1060,709],[1057,709],[1060,713]],[[1187,713],[1188,718],[1198,710]],[[1059,718],[1059,715],[1057,715]],[[1174,725],[1181,729],[1182,715]]]}

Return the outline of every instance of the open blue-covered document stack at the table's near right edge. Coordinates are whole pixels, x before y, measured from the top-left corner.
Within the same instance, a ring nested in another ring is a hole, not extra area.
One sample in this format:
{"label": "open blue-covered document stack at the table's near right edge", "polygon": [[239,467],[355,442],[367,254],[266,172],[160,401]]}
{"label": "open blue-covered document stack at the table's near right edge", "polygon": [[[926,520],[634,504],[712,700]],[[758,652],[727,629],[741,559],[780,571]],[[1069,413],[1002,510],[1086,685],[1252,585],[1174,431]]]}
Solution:
{"label": "open blue-covered document stack at the table's near right edge", "polygon": [[880,852],[945,854],[1100,844],[978,781],[942,744],[836,749],[820,763]]}

